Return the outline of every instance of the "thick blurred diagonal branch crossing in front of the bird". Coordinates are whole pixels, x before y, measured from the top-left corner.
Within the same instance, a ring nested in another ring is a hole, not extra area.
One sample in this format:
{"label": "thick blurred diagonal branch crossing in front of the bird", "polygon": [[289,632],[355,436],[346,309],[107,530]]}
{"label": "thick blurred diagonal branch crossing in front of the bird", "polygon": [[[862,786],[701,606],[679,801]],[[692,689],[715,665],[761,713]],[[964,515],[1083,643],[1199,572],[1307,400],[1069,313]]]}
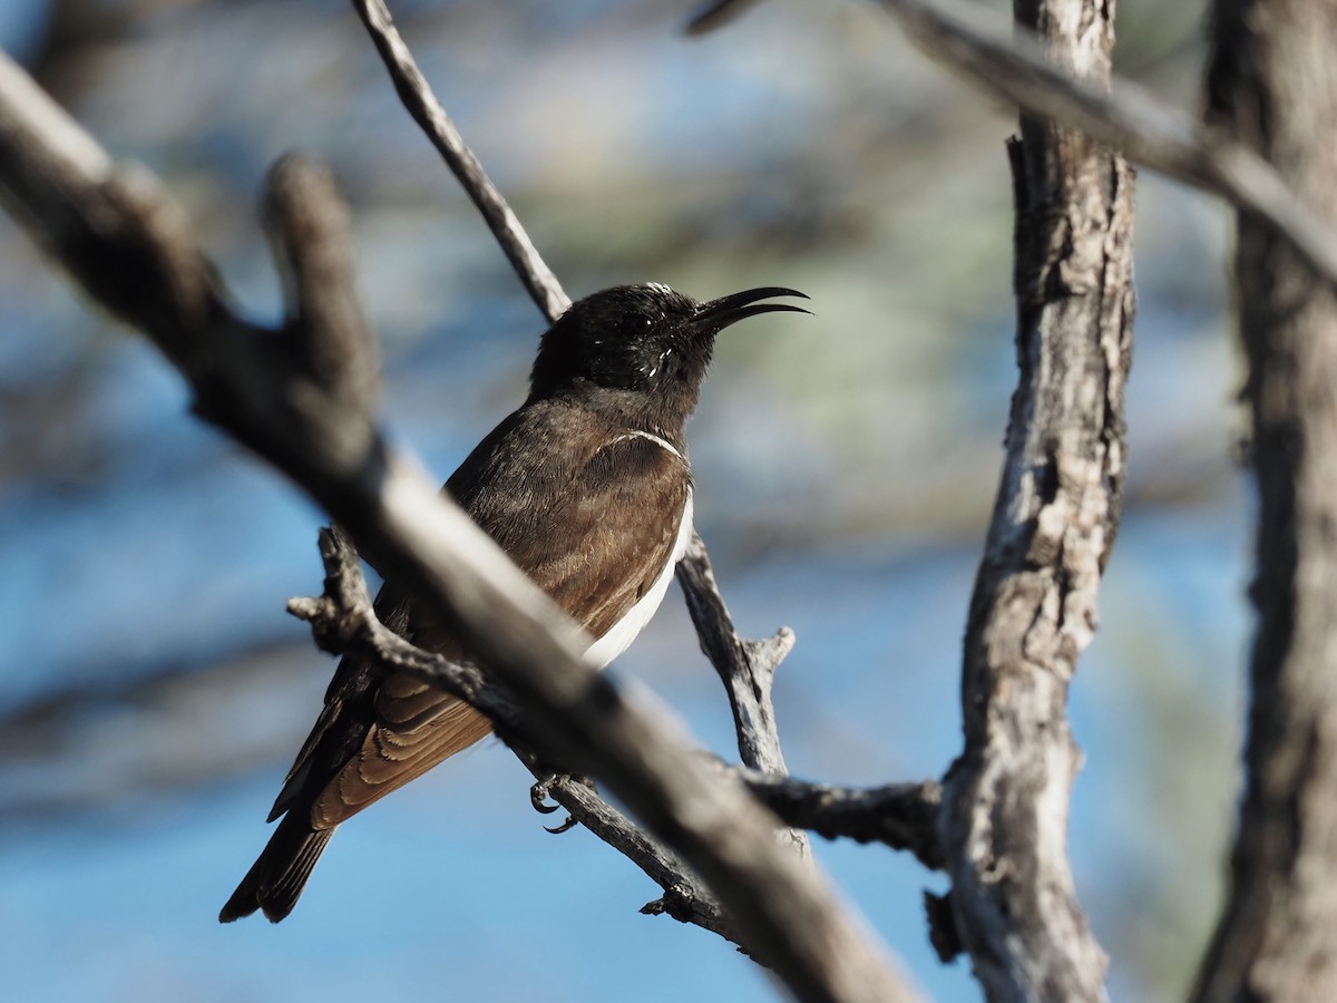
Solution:
{"label": "thick blurred diagonal branch crossing in front of the bird", "polygon": [[[0,56],[7,202],[90,294],[152,338],[199,412],[283,469],[382,574],[457,630],[513,693],[536,748],[606,782],[681,853],[800,999],[910,998],[862,924],[775,843],[774,816],[714,777],[666,709],[587,666],[575,625],[416,464],[386,449],[369,415],[321,382],[301,357],[318,332],[275,337],[227,312],[175,202],[147,173],[91,155],[91,138],[71,140],[78,128]],[[303,242],[293,234],[287,246]]]}

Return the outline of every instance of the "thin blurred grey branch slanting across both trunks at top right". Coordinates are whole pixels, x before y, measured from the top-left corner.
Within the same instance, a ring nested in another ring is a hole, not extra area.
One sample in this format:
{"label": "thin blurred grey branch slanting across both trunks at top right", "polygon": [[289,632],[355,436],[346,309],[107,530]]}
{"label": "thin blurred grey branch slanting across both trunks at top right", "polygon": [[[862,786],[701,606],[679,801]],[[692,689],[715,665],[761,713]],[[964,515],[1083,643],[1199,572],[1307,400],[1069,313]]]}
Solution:
{"label": "thin blurred grey branch slanting across both trunks at top right", "polygon": [[[1285,234],[1316,271],[1337,284],[1337,227],[1227,131],[1167,107],[1128,80],[1115,79],[1106,90],[1075,78],[1046,58],[1034,32],[1013,32],[1012,25],[980,4],[878,1],[925,55],[973,80],[991,96],[1003,96],[1031,115],[1086,132],[1136,164],[1257,214]],[[707,3],[689,20],[687,31],[711,31],[731,20],[735,8],[753,3]]]}

